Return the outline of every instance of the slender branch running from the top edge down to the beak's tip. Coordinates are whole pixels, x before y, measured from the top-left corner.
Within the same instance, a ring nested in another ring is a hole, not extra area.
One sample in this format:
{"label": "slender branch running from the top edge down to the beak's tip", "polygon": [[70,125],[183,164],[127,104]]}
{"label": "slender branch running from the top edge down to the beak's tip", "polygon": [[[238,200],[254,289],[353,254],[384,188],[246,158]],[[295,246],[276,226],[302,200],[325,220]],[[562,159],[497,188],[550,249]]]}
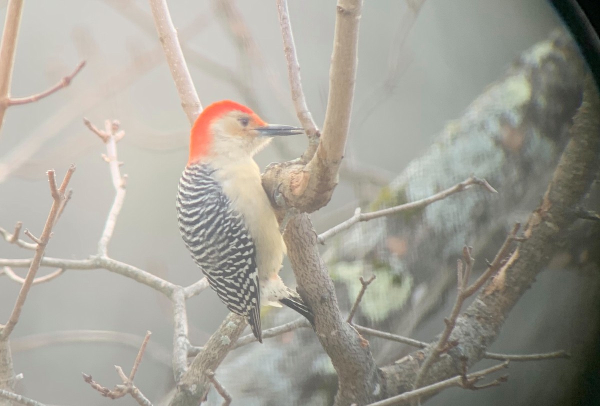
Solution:
{"label": "slender branch running from the top edge down to the beak's tip", "polygon": [[308,156],[310,159],[314,154],[314,149],[319,144],[319,128],[313,120],[313,116],[308,110],[304,91],[302,90],[302,80],[300,79],[300,64],[298,55],[296,55],[296,45],[292,34],[292,23],[290,23],[289,11],[287,10],[287,0],[277,0],[277,12],[279,15],[279,24],[281,26],[281,36],[283,37],[283,52],[286,55],[287,76],[292,90],[292,100],[298,115],[298,120],[306,131],[313,152]]}

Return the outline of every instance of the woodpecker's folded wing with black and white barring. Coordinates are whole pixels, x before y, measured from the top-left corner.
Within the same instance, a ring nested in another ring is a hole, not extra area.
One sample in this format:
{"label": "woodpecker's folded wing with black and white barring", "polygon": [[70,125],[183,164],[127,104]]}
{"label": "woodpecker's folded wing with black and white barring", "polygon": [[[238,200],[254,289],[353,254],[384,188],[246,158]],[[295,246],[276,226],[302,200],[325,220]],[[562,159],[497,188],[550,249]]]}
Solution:
{"label": "woodpecker's folded wing with black and white barring", "polygon": [[244,316],[258,341],[260,288],[256,247],[210,167],[188,167],[179,182],[179,230],[194,262],[227,308]]}

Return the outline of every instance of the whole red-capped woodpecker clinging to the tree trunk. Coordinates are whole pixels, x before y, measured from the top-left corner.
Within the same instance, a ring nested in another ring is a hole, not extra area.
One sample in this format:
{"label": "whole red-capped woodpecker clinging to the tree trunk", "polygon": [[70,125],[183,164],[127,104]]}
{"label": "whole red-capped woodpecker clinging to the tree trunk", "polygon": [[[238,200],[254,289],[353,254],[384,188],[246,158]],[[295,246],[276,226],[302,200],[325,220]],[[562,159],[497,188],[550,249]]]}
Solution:
{"label": "whole red-capped woodpecker clinging to the tree trunk", "polygon": [[286,245],[252,158],[271,137],[302,132],[268,125],[248,107],[218,101],[191,129],[190,158],[179,181],[179,230],[191,257],[227,308],[247,318],[260,342],[261,304],[281,302],[313,318],[279,276]]}

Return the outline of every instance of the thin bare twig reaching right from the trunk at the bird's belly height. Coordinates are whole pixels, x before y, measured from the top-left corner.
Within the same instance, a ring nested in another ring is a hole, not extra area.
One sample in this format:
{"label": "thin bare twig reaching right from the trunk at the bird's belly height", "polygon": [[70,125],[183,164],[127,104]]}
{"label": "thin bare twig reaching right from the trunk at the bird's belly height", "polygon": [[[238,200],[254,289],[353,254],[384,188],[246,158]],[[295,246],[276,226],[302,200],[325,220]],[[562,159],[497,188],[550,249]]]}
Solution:
{"label": "thin bare twig reaching right from the trunk at the bird's belly height", "polygon": [[347,228],[352,227],[352,225],[356,224],[357,222],[370,221],[379,217],[389,216],[405,210],[422,209],[423,207],[426,207],[431,203],[446,199],[446,197],[451,196],[452,194],[465,191],[473,185],[481,186],[486,190],[490,191],[491,193],[497,193],[497,191],[493,187],[491,187],[490,184],[488,184],[488,182],[485,181],[485,179],[479,179],[475,176],[472,176],[471,178],[466,179],[466,181],[460,182],[446,190],[433,194],[430,197],[425,197],[425,199],[416,200],[415,202],[404,203],[398,206],[388,207],[387,209],[376,210],[374,212],[368,213],[361,213],[361,209],[358,207],[352,217],[350,217],[344,222],[341,222],[338,225],[335,225],[335,227],[329,228],[329,230],[321,233],[319,235],[318,241],[319,243],[323,244],[327,239],[335,236],[335,234],[338,234],[341,231],[346,230]]}

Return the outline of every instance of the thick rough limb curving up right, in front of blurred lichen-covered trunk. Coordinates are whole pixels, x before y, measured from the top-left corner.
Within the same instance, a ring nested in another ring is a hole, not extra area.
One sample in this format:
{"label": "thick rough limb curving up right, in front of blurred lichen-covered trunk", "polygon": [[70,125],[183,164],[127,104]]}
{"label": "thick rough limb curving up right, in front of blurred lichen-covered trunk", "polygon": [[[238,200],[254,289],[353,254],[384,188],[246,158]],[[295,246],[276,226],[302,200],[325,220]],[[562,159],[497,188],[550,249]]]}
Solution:
{"label": "thick rough limb curving up right, in front of blurred lichen-covered trunk", "polygon": [[[485,349],[497,338],[512,307],[535,281],[536,275],[561,242],[566,228],[575,221],[573,207],[586,193],[598,169],[599,106],[598,92],[588,80],[583,104],[571,128],[571,141],[540,206],[529,217],[524,231],[526,240],[509,255],[497,275],[458,317],[449,339],[457,341],[460,350],[452,348],[447,352],[448,357],[434,363],[424,377],[425,384],[460,374],[459,357],[470,366],[484,356]],[[386,396],[412,389],[419,359],[424,359],[423,351],[405,357],[404,362],[382,368]]]}

